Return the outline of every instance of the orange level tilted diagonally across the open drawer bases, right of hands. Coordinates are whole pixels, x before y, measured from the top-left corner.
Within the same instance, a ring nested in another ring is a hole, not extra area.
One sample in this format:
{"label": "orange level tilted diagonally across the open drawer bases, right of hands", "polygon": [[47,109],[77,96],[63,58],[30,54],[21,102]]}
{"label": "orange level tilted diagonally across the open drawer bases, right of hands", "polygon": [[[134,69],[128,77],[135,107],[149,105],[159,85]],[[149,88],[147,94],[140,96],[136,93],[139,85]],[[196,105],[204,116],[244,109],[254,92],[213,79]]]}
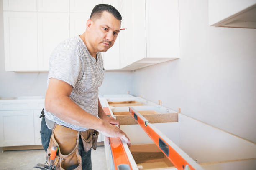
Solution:
{"label": "orange level tilted diagonally across the open drawer bases, right of hands", "polygon": [[[133,107],[129,107],[129,112],[178,170],[202,170],[200,165],[198,165],[165,135],[161,135],[162,133]],[[167,140],[169,143],[166,142]]]}

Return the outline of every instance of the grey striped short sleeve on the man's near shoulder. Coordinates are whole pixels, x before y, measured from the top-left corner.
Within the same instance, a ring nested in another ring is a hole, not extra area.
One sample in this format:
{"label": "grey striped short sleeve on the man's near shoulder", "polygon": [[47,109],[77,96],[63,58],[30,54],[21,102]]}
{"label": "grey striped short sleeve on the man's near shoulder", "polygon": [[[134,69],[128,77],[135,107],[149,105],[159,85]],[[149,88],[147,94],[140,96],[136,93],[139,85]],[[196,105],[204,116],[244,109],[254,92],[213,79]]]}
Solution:
{"label": "grey striped short sleeve on the man's near shoulder", "polygon": [[49,60],[48,78],[62,80],[74,88],[81,68],[81,60],[76,50],[55,49]]}

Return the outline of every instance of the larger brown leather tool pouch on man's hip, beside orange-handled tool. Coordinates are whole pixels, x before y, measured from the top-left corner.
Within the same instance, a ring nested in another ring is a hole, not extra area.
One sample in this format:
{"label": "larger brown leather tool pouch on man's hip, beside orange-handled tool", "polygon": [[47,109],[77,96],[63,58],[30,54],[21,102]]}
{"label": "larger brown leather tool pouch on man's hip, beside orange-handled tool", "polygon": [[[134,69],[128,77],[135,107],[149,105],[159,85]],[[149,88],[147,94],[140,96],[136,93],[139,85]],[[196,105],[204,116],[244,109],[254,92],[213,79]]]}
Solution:
{"label": "larger brown leather tool pouch on man's hip, beside orange-handled tool", "polygon": [[58,146],[59,152],[54,163],[56,170],[82,170],[82,158],[78,151],[79,134],[79,131],[54,124],[51,140],[46,151],[48,165],[50,163],[51,147]]}

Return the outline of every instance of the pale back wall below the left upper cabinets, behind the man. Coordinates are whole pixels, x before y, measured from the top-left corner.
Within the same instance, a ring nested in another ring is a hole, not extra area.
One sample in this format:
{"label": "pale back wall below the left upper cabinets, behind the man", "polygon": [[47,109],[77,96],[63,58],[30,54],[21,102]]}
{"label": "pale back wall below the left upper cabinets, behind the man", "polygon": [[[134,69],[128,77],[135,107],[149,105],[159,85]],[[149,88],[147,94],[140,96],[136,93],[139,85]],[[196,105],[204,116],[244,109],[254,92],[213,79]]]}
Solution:
{"label": "pale back wall below the left upper cabinets, behind the man", "polygon": [[[3,37],[3,0],[0,0],[0,98],[45,96],[48,72],[6,72]],[[131,72],[105,72],[100,94],[127,93]]]}

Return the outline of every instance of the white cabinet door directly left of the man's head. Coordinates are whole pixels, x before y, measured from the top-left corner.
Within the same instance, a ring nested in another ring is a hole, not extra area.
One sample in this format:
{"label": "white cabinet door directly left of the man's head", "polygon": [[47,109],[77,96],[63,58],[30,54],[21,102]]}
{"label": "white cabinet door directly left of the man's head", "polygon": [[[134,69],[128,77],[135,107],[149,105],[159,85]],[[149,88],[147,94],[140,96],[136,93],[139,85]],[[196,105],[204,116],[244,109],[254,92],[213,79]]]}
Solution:
{"label": "white cabinet door directly left of the man's head", "polygon": [[84,33],[90,13],[70,13],[70,37]]}

